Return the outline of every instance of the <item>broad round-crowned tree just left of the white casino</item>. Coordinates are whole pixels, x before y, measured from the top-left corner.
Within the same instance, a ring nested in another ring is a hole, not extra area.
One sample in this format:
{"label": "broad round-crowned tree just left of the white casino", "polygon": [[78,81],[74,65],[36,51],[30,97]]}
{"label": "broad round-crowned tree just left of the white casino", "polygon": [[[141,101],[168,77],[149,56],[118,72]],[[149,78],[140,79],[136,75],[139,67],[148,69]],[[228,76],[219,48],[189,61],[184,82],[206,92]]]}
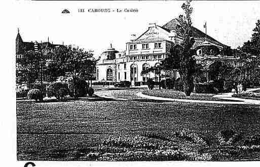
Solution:
{"label": "broad round-crowned tree just left of the white casino", "polygon": [[76,79],[78,77],[86,79],[93,72],[97,60],[93,54],[83,49],[68,47],[58,47],[51,54],[51,61],[48,69],[52,75],[67,75],[73,80],[73,96],[76,94]]}

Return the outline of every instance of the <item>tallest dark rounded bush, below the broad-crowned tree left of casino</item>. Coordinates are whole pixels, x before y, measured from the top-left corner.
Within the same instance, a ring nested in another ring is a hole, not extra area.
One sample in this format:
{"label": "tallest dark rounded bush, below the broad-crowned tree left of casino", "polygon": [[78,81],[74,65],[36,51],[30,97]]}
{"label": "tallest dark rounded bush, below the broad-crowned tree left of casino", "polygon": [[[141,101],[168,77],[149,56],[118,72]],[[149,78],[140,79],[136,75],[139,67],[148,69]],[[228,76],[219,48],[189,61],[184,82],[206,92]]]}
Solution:
{"label": "tallest dark rounded bush, below the broad-crowned tree left of casino", "polygon": [[[75,97],[84,97],[88,93],[89,85],[86,80],[82,78],[76,78]],[[74,97],[74,81],[73,79],[68,81],[68,94],[70,97]]]}

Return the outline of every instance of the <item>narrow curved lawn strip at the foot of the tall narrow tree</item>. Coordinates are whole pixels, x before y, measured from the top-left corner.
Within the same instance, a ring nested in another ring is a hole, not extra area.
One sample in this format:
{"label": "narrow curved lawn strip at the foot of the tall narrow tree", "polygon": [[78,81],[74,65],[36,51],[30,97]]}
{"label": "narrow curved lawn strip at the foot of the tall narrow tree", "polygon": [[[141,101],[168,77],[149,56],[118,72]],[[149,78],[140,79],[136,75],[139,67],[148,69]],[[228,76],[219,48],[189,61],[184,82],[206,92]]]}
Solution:
{"label": "narrow curved lawn strip at the foot of the tall narrow tree", "polygon": [[199,94],[191,93],[191,96],[186,96],[183,92],[175,90],[146,90],[142,92],[144,95],[156,96],[163,98],[172,98],[172,99],[189,99],[189,100],[214,100],[214,101],[231,101],[225,99],[214,98],[215,94]]}

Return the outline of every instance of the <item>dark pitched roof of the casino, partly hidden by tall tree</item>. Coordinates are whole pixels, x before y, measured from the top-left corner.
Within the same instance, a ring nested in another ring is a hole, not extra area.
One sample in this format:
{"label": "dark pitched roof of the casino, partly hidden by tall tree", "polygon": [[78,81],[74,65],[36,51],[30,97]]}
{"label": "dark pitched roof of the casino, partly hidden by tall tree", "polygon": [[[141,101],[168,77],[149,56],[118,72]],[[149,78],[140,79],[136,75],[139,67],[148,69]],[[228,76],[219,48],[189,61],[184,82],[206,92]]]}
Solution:
{"label": "dark pitched roof of the casino, partly hidden by tall tree", "polygon": [[[168,23],[166,23],[165,25],[163,25],[162,27],[165,28],[166,30],[176,30],[177,26],[179,26],[179,19],[175,18],[172,19],[171,21],[169,21]],[[206,36],[206,34],[204,32],[202,32],[201,30],[199,30],[198,28],[195,28],[192,26],[192,31],[193,31],[193,37],[200,37],[203,38]],[[219,41],[217,41],[216,39],[214,39],[213,37],[207,35],[207,39],[213,41],[213,43],[220,45],[222,47],[227,46],[224,45],[222,43],[220,43]]]}

